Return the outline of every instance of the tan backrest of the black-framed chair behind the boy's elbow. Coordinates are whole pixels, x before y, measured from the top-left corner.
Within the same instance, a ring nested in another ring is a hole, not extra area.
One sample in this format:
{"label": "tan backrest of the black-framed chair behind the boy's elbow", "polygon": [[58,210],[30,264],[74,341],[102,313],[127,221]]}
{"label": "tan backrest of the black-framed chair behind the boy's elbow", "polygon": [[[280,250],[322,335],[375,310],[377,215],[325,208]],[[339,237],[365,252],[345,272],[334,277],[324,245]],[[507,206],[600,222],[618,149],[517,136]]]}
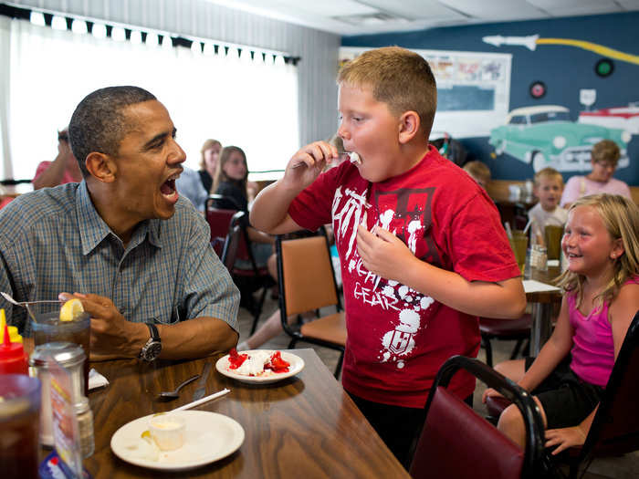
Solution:
{"label": "tan backrest of the black-framed chair behind the boy's elbow", "polygon": [[278,236],[276,248],[286,316],[327,306],[341,309],[326,236],[288,240]]}

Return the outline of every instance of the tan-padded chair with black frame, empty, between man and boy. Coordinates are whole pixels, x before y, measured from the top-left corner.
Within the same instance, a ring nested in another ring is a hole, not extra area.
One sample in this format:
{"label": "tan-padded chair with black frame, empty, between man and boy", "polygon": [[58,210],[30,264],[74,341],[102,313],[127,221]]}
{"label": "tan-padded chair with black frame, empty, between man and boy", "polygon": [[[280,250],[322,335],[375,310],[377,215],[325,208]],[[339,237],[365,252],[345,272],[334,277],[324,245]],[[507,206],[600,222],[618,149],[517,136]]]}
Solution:
{"label": "tan-padded chair with black frame, empty, between man and boy", "polygon": [[[282,328],[290,336],[288,348],[298,341],[317,344],[340,351],[335,377],[340,376],[341,362],[346,345],[346,323],[341,307],[340,293],[335,281],[329,243],[323,234],[295,239],[278,235],[279,312]],[[289,325],[288,317],[317,311],[321,307],[335,307],[336,312]]]}

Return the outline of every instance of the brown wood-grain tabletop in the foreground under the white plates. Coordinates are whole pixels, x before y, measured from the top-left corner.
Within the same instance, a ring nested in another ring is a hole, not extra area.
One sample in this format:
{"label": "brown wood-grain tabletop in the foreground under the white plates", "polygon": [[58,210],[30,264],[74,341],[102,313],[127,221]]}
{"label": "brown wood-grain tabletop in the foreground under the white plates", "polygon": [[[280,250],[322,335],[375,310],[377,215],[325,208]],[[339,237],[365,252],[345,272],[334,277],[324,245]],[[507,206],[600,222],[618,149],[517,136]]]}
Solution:
{"label": "brown wood-grain tabletop in the foreground under the white plates", "polygon": [[[361,477],[408,478],[393,453],[364,419],[313,349],[290,351],[304,359],[296,377],[256,386],[225,378],[215,360],[157,361],[137,359],[95,362],[91,366],[110,385],[89,393],[95,417],[95,450],[84,466],[101,477]],[[225,414],[246,432],[236,453],[216,463],[181,474],[162,474],[121,461],[110,450],[110,438],[121,425],[152,412],[169,411],[192,399],[196,382],[185,386],[178,400],[158,402],[161,390],[202,372],[212,361],[207,394],[228,388],[226,396],[195,409]]]}

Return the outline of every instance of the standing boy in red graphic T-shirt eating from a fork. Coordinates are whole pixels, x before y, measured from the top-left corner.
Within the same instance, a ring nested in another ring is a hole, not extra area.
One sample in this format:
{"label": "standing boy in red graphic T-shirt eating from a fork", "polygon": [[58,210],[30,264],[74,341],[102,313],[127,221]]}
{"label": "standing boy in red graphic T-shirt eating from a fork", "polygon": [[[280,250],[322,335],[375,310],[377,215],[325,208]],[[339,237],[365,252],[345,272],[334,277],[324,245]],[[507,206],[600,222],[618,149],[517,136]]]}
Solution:
{"label": "standing boy in red graphic T-shirt eating from a fork", "polygon": [[[271,234],[332,223],[348,332],[342,384],[408,466],[437,370],[477,355],[477,316],[516,318],[525,295],[494,203],[428,145],[436,88],[424,57],[370,50],[338,84],[338,134],[360,161],[320,174],[337,149],[303,147],[259,193],[251,223]],[[467,399],[475,380],[457,374],[450,389]]]}

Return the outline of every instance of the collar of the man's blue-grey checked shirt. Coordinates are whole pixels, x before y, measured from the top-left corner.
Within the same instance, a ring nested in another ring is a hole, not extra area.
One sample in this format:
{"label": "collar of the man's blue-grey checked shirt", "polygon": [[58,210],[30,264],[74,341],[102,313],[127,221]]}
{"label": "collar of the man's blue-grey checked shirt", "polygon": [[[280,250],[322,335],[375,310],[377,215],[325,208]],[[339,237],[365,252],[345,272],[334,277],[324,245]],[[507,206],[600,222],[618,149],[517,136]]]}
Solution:
{"label": "collar of the man's blue-grey checked shirt", "polygon": [[[87,182],[84,180],[80,182],[76,192],[76,213],[78,215],[78,231],[82,243],[83,255],[89,255],[109,234],[118,237],[117,234],[110,230],[109,225],[104,222],[100,214],[96,211],[89,195]],[[162,248],[162,241],[160,240],[160,220],[153,219],[142,222],[135,229],[128,249],[140,245],[146,237],[149,238],[149,243],[158,248]]]}

